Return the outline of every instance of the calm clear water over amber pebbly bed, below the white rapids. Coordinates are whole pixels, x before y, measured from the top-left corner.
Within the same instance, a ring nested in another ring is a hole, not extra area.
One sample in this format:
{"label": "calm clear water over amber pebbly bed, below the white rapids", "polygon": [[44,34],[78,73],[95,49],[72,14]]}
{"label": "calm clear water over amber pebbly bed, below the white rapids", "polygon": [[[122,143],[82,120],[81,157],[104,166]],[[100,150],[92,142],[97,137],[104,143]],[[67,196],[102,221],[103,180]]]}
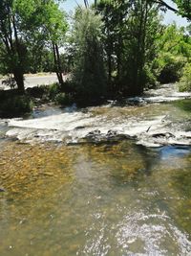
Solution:
{"label": "calm clear water over amber pebbly bed, below the white rapids", "polygon": [[29,146],[0,153],[0,255],[189,255],[189,148]]}

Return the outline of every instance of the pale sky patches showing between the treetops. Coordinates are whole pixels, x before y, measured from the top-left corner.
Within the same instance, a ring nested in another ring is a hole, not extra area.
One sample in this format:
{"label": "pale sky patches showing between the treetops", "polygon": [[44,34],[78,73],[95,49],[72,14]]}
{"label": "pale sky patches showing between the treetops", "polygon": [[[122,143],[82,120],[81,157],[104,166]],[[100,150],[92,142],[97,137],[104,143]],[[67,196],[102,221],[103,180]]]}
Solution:
{"label": "pale sky patches showing between the treetops", "polygon": [[[89,0],[89,3],[93,2],[93,0]],[[176,7],[171,0],[166,0],[166,3],[169,4],[172,7]],[[70,12],[73,11],[74,8],[77,6],[77,4],[79,5],[84,5],[84,0],[66,0],[63,4],[62,4],[62,8],[66,11],[66,12]],[[163,13],[163,12],[162,12]],[[164,15],[164,23],[165,24],[171,24],[174,21],[177,22],[177,24],[179,26],[187,26],[188,22],[185,18],[182,18],[178,15],[176,15],[174,12],[172,11],[167,11],[166,13],[163,13]]]}

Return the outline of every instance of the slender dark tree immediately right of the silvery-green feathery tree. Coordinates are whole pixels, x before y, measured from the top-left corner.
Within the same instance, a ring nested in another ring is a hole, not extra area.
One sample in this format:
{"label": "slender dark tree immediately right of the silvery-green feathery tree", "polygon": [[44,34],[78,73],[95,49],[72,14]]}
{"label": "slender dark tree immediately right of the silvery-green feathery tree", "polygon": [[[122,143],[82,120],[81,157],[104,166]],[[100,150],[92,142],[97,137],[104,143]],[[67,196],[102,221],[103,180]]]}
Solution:
{"label": "slender dark tree immediately right of the silvery-green feathery tree", "polygon": [[105,35],[103,40],[110,86],[115,73],[117,79],[120,77],[124,30],[129,6],[127,1],[109,0],[100,0],[96,5],[96,12],[101,13],[104,23],[102,33]]}

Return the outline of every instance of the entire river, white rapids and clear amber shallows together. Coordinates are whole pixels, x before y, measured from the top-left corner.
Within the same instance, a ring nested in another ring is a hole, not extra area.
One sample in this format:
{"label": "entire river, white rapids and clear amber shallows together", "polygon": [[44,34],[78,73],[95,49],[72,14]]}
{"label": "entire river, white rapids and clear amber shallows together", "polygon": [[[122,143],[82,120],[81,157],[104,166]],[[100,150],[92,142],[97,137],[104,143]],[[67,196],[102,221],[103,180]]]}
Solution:
{"label": "entire river, white rapids and clear amber shallows together", "polygon": [[156,97],[0,121],[0,255],[191,255],[190,100]]}

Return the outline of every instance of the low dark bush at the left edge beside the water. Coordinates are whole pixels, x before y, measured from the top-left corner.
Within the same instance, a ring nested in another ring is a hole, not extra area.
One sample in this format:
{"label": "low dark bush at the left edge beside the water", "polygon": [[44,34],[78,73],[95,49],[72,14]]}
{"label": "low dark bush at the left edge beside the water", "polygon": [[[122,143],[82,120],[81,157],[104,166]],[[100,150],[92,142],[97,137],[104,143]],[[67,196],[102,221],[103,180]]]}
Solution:
{"label": "low dark bush at the left edge beside the water", "polygon": [[0,117],[19,117],[32,111],[32,100],[28,96],[11,95],[1,99]]}

